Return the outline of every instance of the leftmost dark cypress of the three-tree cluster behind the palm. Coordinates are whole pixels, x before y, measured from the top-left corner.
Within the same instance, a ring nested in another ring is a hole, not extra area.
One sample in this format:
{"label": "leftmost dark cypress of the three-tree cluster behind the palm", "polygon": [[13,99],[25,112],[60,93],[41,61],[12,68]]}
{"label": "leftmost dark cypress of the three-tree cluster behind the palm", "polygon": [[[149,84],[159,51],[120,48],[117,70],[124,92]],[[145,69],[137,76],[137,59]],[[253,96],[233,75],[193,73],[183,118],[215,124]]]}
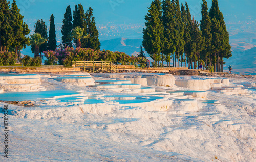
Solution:
{"label": "leftmost dark cypress of the three-tree cluster behind the palm", "polygon": [[[72,25],[72,13],[71,13],[71,8],[70,5],[67,7],[66,12],[64,14],[64,19],[63,19],[63,25],[61,28],[61,33],[62,33],[62,43],[67,43],[70,42],[69,40],[69,34],[71,32],[71,30],[73,29],[73,25]],[[69,43],[68,44],[69,47],[72,47],[72,44]]]}

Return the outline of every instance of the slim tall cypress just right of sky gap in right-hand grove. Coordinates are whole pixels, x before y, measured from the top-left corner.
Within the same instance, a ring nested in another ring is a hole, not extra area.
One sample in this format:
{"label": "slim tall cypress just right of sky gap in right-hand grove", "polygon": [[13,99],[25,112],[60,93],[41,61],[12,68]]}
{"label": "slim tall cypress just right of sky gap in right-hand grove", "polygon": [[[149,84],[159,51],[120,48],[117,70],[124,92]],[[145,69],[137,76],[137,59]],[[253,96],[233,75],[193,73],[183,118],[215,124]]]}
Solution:
{"label": "slim tall cypress just right of sky gap in right-hand grove", "polygon": [[200,24],[200,29],[202,31],[202,36],[205,39],[205,49],[201,53],[202,53],[202,56],[204,57],[205,65],[207,67],[208,56],[210,55],[210,52],[211,52],[212,33],[211,33],[211,19],[209,17],[206,0],[203,0],[201,14],[202,14],[202,20]]}

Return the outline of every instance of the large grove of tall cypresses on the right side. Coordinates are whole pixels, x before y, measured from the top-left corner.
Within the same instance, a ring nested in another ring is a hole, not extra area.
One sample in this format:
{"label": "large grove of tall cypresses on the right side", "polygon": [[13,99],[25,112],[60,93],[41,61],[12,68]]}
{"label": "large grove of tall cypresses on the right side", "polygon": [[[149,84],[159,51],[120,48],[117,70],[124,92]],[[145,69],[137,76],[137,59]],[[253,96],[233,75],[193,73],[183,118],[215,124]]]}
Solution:
{"label": "large grove of tall cypresses on the right side", "polygon": [[174,67],[196,68],[196,62],[205,62],[214,71],[223,72],[223,58],[231,57],[229,34],[218,0],[212,0],[208,11],[202,0],[202,20],[191,16],[188,4],[179,0],[154,0],[145,16],[143,41],[154,64],[166,61]]}

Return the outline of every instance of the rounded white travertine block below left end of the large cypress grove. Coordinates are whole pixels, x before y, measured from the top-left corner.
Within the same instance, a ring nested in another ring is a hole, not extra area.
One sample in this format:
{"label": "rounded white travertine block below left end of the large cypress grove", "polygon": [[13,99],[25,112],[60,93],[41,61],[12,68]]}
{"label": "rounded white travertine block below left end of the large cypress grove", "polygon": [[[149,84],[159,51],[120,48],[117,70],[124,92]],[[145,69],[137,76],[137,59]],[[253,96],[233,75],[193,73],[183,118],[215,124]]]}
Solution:
{"label": "rounded white travertine block below left end of the large cypress grove", "polygon": [[147,78],[148,86],[169,86],[174,87],[175,78],[172,74],[166,75],[142,75],[142,78]]}

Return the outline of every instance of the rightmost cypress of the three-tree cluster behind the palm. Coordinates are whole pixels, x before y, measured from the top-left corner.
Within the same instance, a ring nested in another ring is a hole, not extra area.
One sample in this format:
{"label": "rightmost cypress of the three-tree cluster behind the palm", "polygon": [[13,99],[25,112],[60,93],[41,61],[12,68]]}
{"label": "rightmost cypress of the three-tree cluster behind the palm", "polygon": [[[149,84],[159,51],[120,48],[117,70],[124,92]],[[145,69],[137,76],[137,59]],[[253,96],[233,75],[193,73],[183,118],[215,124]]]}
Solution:
{"label": "rightmost cypress of the three-tree cluster behind the palm", "polygon": [[99,32],[96,28],[95,17],[93,16],[93,9],[91,7],[86,12],[86,24],[86,32],[90,36],[82,41],[82,47],[100,50]]}

